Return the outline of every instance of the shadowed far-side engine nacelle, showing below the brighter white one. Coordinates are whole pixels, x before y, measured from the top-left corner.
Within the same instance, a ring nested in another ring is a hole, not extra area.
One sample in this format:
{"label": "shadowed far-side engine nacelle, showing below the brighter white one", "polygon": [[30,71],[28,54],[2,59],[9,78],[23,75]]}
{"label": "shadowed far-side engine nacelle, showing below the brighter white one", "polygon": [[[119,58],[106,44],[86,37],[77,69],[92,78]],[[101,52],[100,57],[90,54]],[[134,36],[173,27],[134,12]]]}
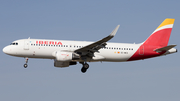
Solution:
{"label": "shadowed far-side engine nacelle, showing below the brighter white one", "polygon": [[76,65],[77,62],[62,62],[62,61],[56,61],[54,60],[54,66],[55,67],[69,67],[69,65]]}

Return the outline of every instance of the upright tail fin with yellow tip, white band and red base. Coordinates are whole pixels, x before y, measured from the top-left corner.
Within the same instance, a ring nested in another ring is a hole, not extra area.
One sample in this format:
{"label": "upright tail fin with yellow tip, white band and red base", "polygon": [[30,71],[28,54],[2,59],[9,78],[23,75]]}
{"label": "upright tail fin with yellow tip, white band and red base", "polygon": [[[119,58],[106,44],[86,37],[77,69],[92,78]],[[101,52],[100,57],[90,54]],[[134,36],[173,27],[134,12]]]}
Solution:
{"label": "upright tail fin with yellow tip, white band and red base", "polygon": [[171,18],[165,19],[143,44],[159,47],[167,46],[174,20]]}

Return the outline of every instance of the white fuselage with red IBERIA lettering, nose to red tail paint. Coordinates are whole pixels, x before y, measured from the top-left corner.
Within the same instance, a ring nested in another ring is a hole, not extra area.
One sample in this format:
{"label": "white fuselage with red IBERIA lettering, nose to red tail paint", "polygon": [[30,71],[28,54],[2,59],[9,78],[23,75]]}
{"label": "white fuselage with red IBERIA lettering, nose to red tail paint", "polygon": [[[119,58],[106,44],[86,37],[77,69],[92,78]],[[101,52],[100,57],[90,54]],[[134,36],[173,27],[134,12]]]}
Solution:
{"label": "white fuselage with red IBERIA lettering, nose to red tail paint", "polygon": [[[17,57],[55,59],[53,54],[56,51],[73,52],[93,42],[21,39],[13,43],[18,43],[18,45],[5,47],[3,51],[6,54]],[[106,47],[100,49],[99,52],[95,52],[95,56],[89,61],[127,61],[138,50],[140,45],[141,44],[107,43]]]}

